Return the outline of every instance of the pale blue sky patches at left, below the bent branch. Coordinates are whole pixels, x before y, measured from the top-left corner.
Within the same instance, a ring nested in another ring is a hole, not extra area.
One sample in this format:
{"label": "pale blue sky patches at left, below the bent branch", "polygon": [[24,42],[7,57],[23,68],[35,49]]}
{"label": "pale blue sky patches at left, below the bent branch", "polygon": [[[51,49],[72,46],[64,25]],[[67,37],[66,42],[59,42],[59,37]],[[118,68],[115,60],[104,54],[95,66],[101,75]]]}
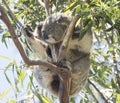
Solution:
{"label": "pale blue sky patches at left, below the bent branch", "polygon": [[[0,55],[12,58],[18,61],[19,63],[21,61],[21,57],[15,45],[13,44],[13,42],[11,40],[7,40],[8,48],[6,48],[6,46],[1,42],[1,37],[2,37],[2,34],[0,34]],[[6,65],[8,65],[8,63],[10,62],[12,62],[12,60],[7,60],[7,59],[0,57],[0,93],[2,93],[3,91],[11,87],[10,84],[7,82],[5,75],[4,75],[4,69]],[[13,81],[12,70],[8,70],[7,74],[9,75],[11,81]],[[13,91],[10,92],[7,98],[12,98],[14,96],[13,94],[14,94]]]}

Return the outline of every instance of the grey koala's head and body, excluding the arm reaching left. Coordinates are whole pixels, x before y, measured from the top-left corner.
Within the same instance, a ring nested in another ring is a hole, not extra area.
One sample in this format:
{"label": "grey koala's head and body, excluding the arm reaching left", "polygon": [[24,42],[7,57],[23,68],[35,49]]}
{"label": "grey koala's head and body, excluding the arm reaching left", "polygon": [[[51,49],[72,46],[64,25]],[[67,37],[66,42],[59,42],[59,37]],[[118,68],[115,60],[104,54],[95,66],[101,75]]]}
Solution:
{"label": "grey koala's head and body, excluding the arm reaching left", "polygon": [[[63,13],[52,14],[36,27],[33,35],[38,39],[44,40],[49,45],[54,45],[58,55],[58,50],[71,20],[71,16]],[[91,30],[88,30],[80,40],[79,34],[81,28],[81,26],[74,28],[64,57],[65,62],[67,61],[71,64],[72,78],[70,84],[70,96],[75,96],[84,87],[90,68],[89,57],[93,42],[92,32]],[[45,60],[49,62],[47,57],[49,56],[52,58],[51,49],[44,49],[43,51],[46,52]],[[42,56],[42,54],[39,56]],[[67,67],[67,64],[65,65]],[[34,70],[34,75],[43,88],[58,96],[60,78],[56,73],[50,71],[49,68],[38,66]]]}

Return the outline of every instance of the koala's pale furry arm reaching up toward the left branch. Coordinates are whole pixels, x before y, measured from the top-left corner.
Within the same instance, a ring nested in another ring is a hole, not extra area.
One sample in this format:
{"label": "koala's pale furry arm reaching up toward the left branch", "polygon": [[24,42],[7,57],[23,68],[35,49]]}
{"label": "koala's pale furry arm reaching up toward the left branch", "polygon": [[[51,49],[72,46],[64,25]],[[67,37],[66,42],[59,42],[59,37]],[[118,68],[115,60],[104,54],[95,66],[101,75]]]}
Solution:
{"label": "koala's pale furry arm reaching up toward the left branch", "polygon": [[41,59],[46,59],[46,48],[48,47],[47,43],[38,39],[38,37],[34,35],[35,31],[33,32],[29,26],[25,27],[25,32],[25,37],[31,48]]}

